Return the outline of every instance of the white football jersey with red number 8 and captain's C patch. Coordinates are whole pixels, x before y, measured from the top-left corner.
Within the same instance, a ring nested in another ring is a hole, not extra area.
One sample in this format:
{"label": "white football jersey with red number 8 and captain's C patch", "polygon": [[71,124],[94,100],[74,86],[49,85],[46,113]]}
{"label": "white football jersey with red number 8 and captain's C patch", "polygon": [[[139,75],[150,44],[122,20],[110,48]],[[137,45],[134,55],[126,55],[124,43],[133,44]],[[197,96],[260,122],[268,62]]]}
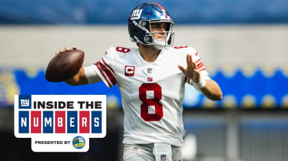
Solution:
{"label": "white football jersey with red number 8 and captain's C patch", "polygon": [[[182,145],[184,84],[193,82],[178,65],[187,67],[187,54],[202,78],[210,79],[197,51],[189,46],[164,48],[154,62],[145,61],[138,48],[111,47],[92,66],[108,87],[117,83],[121,91],[123,143]],[[93,74],[88,73],[88,82],[93,83]]]}

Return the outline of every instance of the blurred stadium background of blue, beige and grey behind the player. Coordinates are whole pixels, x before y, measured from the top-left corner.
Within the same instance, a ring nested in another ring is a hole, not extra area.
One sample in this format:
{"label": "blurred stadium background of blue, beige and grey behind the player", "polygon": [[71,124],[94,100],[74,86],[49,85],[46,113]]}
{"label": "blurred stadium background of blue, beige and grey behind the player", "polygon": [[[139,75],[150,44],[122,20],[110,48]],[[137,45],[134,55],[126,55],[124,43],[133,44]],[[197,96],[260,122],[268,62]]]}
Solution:
{"label": "blurred stadium background of blue, beige and grey behind the player", "polygon": [[[45,68],[64,46],[84,50],[84,65],[110,46],[135,46],[126,20],[144,2],[0,1],[0,160],[121,160],[117,86],[48,83]],[[211,102],[187,86],[184,127],[196,141],[194,160],[288,160],[288,1],[155,2],[176,23],[175,46],[196,48],[224,94]],[[13,134],[14,94],[107,94],[107,136],[91,139],[87,153],[33,153],[29,139]]]}

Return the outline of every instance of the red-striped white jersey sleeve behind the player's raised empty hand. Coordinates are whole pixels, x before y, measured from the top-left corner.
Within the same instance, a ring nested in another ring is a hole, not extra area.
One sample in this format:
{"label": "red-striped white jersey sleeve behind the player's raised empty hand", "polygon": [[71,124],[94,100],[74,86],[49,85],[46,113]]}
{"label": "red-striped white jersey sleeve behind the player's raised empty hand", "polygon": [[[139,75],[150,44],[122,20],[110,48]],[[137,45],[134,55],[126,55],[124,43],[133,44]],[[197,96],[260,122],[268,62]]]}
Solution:
{"label": "red-striped white jersey sleeve behind the player's raised empty hand", "polygon": [[[199,57],[197,50],[195,50],[194,48],[191,48],[191,50],[189,50],[189,54],[192,55],[193,62],[195,62],[198,70],[200,70],[201,79],[211,80],[211,78],[208,76],[208,72],[206,71],[206,68],[205,68],[205,65],[204,65],[202,59],[200,59],[200,57]],[[185,76],[185,82],[188,83],[189,85],[194,84],[192,79],[188,78],[187,76]],[[195,85],[193,85],[193,86],[195,87]],[[197,89],[197,87],[195,87],[195,88]],[[200,91],[200,89],[197,89],[197,90]]]}

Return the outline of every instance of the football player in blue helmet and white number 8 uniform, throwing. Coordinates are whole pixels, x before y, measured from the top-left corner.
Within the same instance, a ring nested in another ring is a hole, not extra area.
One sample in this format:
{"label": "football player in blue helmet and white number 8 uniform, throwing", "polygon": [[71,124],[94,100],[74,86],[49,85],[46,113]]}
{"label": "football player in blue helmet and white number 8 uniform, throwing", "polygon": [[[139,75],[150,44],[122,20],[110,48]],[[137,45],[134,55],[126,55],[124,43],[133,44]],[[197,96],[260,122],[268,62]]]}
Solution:
{"label": "football player in blue helmet and white number 8 uniform, throwing", "polygon": [[97,63],[65,81],[118,85],[124,111],[122,160],[182,160],[185,83],[211,100],[222,98],[197,50],[173,47],[173,24],[158,3],[136,6],[128,18],[128,31],[138,48],[111,47]]}

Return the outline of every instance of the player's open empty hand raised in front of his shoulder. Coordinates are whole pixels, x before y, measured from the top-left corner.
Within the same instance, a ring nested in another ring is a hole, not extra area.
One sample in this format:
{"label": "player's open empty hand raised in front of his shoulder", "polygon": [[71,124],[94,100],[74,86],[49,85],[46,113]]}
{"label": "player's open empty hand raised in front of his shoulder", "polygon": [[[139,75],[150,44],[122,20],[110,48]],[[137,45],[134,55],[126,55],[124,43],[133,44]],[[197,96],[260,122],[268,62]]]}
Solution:
{"label": "player's open empty hand raised in front of his shoulder", "polygon": [[181,65],[178,65],[178,68],[184,73],[185,76],[191,78],[194,83],[201,81],[200,70],[198,70],[197,65],[192,60],[192,55],[186,57],[187,68],[184,69]]}

